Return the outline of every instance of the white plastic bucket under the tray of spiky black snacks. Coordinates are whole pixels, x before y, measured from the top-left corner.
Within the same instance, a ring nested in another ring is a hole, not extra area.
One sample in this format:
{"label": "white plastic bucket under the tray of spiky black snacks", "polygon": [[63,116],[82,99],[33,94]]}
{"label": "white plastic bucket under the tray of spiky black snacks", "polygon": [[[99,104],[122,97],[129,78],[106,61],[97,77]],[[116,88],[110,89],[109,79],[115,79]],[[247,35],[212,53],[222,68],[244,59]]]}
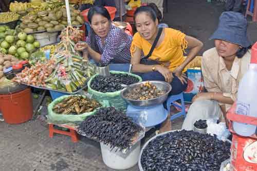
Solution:
{"label": "white plastic bucket under the tray of spiky black snacks", "polygon": [[100,143],[104,164],[113,169],[127,169],[137,164],[140,154],[140,141],[132,146],[131,150],[124,156],[122,152],[111,152],[111,148]]}

